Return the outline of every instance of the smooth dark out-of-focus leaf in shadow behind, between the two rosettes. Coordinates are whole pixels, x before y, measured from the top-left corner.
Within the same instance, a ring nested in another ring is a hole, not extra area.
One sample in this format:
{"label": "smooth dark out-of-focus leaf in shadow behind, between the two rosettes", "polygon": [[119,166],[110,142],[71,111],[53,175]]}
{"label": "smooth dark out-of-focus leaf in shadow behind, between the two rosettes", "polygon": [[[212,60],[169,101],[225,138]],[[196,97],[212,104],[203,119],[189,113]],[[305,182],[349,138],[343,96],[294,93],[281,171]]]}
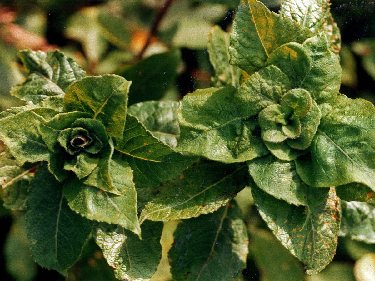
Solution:
{"label": "smooth dark out-of-focus leaf in shadow behind, between the two rosettes", "polygon": [[158,100],[174,83],[176,69],[181,62],[178,49],[151,55],[133,66],[117,71],[128,81],[132,81],[129,93],[129,105],[146,100]]}

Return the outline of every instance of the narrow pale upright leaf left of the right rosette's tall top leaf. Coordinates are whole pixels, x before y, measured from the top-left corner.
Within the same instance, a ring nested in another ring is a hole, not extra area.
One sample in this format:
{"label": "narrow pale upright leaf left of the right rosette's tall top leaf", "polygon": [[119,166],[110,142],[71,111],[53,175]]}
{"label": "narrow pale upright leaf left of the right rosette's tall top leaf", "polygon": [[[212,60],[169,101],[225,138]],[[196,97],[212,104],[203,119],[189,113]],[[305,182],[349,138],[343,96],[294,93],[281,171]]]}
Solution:
{"label": "narrow pale upright leaf left of the right rosette's tall top leaf", "polygon": [[219,25],[215,25],[208,39],[208,55],[215,71],[211,78],[214,87],[233,86],[239,87],[241,69],[229,64],[229,33],[223,31]]}

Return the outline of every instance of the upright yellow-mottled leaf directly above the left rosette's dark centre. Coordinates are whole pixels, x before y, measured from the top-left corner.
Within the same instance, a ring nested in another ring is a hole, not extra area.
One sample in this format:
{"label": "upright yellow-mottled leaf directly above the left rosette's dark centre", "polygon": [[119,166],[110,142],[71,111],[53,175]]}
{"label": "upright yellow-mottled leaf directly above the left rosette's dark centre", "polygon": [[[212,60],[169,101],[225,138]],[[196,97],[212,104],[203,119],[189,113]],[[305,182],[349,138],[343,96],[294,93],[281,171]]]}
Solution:
{"label": "upright yellow-mottled leaf directly above the left rosette's dark centre", "polygon": [[88,112],[100,120],[108,135],[121,141],[126,119],[127,94],[132,82],[117,75],[89,76],[72,84],[64,99],[64,111]]}

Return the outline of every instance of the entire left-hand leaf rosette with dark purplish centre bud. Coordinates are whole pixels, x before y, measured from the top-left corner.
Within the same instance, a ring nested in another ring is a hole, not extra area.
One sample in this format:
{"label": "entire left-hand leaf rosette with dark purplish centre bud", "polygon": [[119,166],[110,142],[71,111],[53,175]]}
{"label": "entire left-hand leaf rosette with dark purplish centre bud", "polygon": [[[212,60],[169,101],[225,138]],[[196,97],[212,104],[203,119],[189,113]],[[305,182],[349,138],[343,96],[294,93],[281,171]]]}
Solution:
{"label": "entire left-hand leaf rosette with dark purplish centre bud", "polygon": [[[151,133],[127,113],[131,81],[117,75],[86,76],[59,51],[25,50],[20,57],[30,73],[12,94],[27,105],[0,113],[0,138],[7,147],[0,155],[5,206],[27,209],[31,255],[41,266],[66,275],[95,221],[126,233],[124,247],[141,243],[138,209],[143,207],[137,205],[144,206],[151,198],[142,189],[175,178],[197,157],[184,156],[154,136],[166,129]],[[153,111],[145,103],[134,112],[162,114],[162,103],[152,106]],[[162,123],[177,124],[173,118],[164,119]],[[146,124],[151,130],[162,126]],[[172,128],[178,133],[178,124]],[[157,232],[145,233],[147,245],[155,248],[155,259],[139,264],[145,277],[153,274],[160,260],[157,225]],[[111,235],[101,237],[110,241]],[[128,255],[137,255],[131,251]],[[122,259],[112,251],[105,257],[109,263]],[[124,267],[118,278],[127,278],[128,270]]]}

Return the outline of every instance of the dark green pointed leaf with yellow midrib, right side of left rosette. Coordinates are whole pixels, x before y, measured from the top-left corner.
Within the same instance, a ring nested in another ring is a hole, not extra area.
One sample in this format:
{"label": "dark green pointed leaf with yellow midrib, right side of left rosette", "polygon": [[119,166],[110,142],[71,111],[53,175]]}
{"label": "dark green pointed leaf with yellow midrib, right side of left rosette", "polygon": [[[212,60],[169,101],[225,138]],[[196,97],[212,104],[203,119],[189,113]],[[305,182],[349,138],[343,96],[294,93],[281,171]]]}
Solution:
{"label": "dark green pointed leaf with yellow midrib, right side of left rosette", "polygon": [[134,171],[137,188],[156,187],[179,175],[196,157],[184,156],[154,138],[136,117],[127,115],[123,139],[115,149]]}

